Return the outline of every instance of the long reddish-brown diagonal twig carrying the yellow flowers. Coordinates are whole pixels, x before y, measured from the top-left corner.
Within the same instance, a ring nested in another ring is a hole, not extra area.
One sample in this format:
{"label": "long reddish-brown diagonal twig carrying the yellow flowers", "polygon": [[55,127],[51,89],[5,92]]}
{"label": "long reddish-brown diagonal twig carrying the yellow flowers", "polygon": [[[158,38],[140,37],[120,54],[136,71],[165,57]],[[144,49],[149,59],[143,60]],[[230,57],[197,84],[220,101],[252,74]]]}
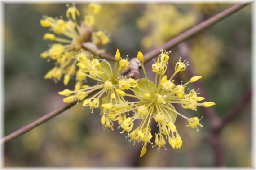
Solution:
{"label": "long reddish-brown diagonal twig carrying the yellow flowers", "polygon": [[[187,38],[190,38],[192,35],[199,33],[200,31],[206,29],[209,26],[212,26],[213,24],[217,23],[218,21],[221,21],[222,19],[224,19],[225,17],[230,16],[232,13],[235,13],[236,11],[238,11],[239,9],[242,9],[243,7],[245,7],[247,4],[249,3],[238,3],[238,4],[234,4],[233,6],[231,6],[228,9],[225,9],[224,11],[222,11],[221,13],[216,14],[215,16],[209,18],[206,21],[203,21],[202,23],[200,23],[197,26],[194,26],[193,28],[191,28],[190,30],[185,31],[184,33],[178,35],[177,37],[173,38],[172,40],[168,41],[167,43],[163,44],[162,46],[160,46],[159,48],[156,48],[155,50],[152,50],[148,53],[146,53],[144,55],[144,63],[148,62],[150,59],[154,58],[154,56],[156,56],[157,54],[159,54],[159,51],[161,49],[169,49],[175,45],[177,45],[178,43],[184,41]],[[102,53],[100,54],[100,56],[102,56],[103,58],[107,58],[110,60],[113,60],[113,56],[106,54],[106,53]],[[127,70],[127,72],[129,72],[129,70]],[[124,74],[126,74],[127,72],[125,72]],[[202,91],[201,91],[202,92]],[[44,115],[43,117],[35,120],[34,122],[26,125],[25,127],[22,127],[21,129],[9,134],[8,136],[5,136],[2,140],[1,140],[1,144],[5,144],[6,142],[15,139],[18,136],[21,136],[22,134],[30,131],[31,129],[39,126],[40,124],[48,121],[49,119],[52,119],[54,116],[64,112],[65,110],[69,109],[70,107],[74,106],[75,103],[71,102],[71,103],[67,103],[67,104],[63,104],[62,106],[58,107],[57,109],[51,111],[50,113]]]}

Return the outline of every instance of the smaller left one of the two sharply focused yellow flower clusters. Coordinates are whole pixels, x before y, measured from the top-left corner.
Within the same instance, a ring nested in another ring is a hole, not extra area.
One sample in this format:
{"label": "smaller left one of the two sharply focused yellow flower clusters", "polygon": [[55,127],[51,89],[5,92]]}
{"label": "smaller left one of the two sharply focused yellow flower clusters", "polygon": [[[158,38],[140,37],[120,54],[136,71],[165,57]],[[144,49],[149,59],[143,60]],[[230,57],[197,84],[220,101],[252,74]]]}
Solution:
{"label": "smaller left one of the two sharply focused yellow flower clusters", "polygon": [[[91,109],[97,108],[99,106],[100,99],[102,99],[102,103],[111,103],[108,105],[103,104],[104,107],[102,107],[102,113],[104,113],[104,108],[107,109],[114,104],[125,103],[126,101],[123,97],[126,96],[126,93],[124,90],[137,86],[136,80],[132,78],[127,79],[124,76],[119,77],[122,70],[128,68],[129,64],[128,58],[121,58],[118,49],[115,55],[116,62],[113,70],[106,60],[102,60],[102,62],[100,62],[101,59],[89,60],[83,53],[78,53],[75,58],[78,62],[77,66],[79,67],[77,72],[78,81],[75,85],[74,91],[65,89],[62,92],[59,92],[59,94],[67,96],[63,99],[63,102],[71,102],[74,99],[82,101],[90,93],[96,92],[92,97],[84,100],[83,106],[90,106]],[[87,77],[96,80],[98,84],[92,87],[83,85],[82,82]],[[109,121],[110,119],[107,116],[102,116],[102,124],[107,128],[113,126],[113,124],[108,124]]]}

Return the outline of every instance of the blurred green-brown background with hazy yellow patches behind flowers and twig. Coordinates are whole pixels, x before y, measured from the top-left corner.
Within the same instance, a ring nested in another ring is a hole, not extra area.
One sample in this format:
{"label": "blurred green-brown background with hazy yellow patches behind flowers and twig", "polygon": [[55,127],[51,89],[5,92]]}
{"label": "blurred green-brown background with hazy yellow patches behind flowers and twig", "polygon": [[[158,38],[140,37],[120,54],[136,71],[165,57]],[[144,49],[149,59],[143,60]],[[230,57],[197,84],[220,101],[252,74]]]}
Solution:
{"label": "blurred green-brown background with hazy yellow patches behind flowers and twig", "polygon": [[[94,30],[110,35],[111,43],[103,47],[112,55],[119,48],[121,55],[137,56],[206,20],[232,4],[102,4],[95,18]],[[76,5],[84,20],[88,4]],[[181,46],[170,49],[169,75],[174,72],[182,49],[189,51],[189,60],[206,92],[207,101],[215,102],[214,114],[224,117],[234,109],[251,89],[252,6],[247,5],[233,15],[189,38]],[[66,4],[4,4],[4,136],[41,117],[62,104],[57,92],[72,89],[62,81],[45,80],[53,62],[40,58],[48,49],[43,36],[48,28],[40,26],[43,15],[64,16]],[[151,62],[146,64],[151,72]],[[189,70],[177,77],[185,82]],[[143,75],[143,74],[141,74]],[[192,87],[193,88],[193,87]],[[196,87],[194,87],[196,88]],[[205,96],[204,96],[205,97]],[[26,166],[151,166],[187,167],[216,166],[209,136],[210,126],[204,110],[196,112],[175,106],[189,117],[201,117],[199,132],[186,128],[178,117],[176,125],[183,139],[181,149],[148,147],[146,155],[137,158],[141,144],[133,145],[120,134],[120,129],[103,131],[100,116],[88,107],[77,104],[61,115],[36,127],[4,145],[5,167]],[[221,130],[220,146],[223,165],[251,166],[251,103],[244,102],[237,115]]]}

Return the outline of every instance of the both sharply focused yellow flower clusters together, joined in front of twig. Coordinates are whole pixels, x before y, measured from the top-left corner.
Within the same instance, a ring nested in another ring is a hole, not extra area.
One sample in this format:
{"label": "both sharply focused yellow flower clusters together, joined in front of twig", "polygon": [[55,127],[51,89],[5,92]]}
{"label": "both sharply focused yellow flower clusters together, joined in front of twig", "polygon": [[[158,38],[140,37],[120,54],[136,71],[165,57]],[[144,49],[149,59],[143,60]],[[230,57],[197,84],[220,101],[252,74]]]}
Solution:
{"label": "both sharply focused yellow flower clusters together, joined in front of twig", "polygon": [[[155,134],[155,144],[158,149],[164,147],[166,140],[176,149],[181,148],[181,136],[177,132],[175,120],[177,115],[188,120],[188,127],[196,128],[202,125],[197,117],[187,118],[178,113],[172,104],[181,104],[185,109],[196,110],[197,106],[210,107],[215,105],[213,102],[203,102],[203,97],[198,96],[198,91],[189,90],[187,85],[201,78],[194,76],[185,84],[175,84],[173,77],[188,66],[186,61],[176,63],[175,71],[171,78],[165,75],[169,53],[161,51],[157,61],[152,64],[152,72],[155,72],[155,82],[150,81],[146,75],[143,64],[143,54],[138,52],[138,60],[146,76],[145,79],[134,80],[120,76],[124,68],[128,68],[128,59],[120,59],[119,50],[115,55],[115,68],[112,70],[110,64],[98,59],[89,61],[84,54],[77,55],[77,65],[81,72],[81,79],[90,77],[98,81],[98,84],[92,87],[84,85],[82,89],[71,91],[64,90],[59,94],[68,96],[63,99],[64,102],[71,102],[75,98],[84,100],[83,106],[97,108],[101,106],[101,123],[105,128],[113,129],[115,121],[122,128],[122,132],[128,132],[129,141],[134,140],[142,143],[141,156],[147,151],[147,144],[153,144],[150,140],[153,135],[151,133],[151,122],[154,120],[158,123],[159,132]],[[119,63],[119,68],[118,68]],[[83,76],[82,76],[83,75]],[[90,93],[96,92],[92,97],[86,98]],[[134,93],[134,94],[130,94]],[[137,102],[128,102],[125,96],[139,99]],[[100,98],[102,104],[100,105]],[[135,121],[140,122],[138,127],[134,127]],[[198,129],[197,129],[198,130]]]}

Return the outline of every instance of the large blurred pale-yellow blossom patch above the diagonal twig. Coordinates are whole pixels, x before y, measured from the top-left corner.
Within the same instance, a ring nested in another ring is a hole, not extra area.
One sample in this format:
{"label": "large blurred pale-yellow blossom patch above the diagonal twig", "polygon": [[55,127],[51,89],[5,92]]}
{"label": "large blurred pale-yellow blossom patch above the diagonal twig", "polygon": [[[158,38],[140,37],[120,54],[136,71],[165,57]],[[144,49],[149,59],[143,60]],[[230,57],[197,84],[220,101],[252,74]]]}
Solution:
{"label": "large blurred pale-yellow blossom patch above the diagonal twig", "polygon": [[172,4],[147,4],[142,17],[137,19],[137,26],[148,33],[141,40],[146,48],[162,45],[195,23],[194,13],[182,13]]}

